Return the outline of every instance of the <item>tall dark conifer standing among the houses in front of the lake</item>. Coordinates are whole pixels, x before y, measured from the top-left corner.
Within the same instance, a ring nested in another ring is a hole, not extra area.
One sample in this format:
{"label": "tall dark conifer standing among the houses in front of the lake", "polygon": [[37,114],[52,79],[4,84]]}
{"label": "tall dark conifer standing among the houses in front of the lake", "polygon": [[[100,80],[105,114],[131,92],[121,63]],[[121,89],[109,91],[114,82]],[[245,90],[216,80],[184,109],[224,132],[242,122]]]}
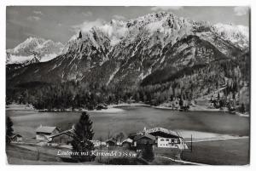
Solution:
{"label": "tall dark conifer standing among the houses in front of the lake", "polygon": [[95,157],[90,155],[90,151],[94,150],[94,145],[90,140],[93,138],[92,122],[90,116],[83,112],[79,123],[76,124],[74,129],[74,136],[72,141],[73,152],[79,152],[79,155],[73,155],[73,159],[78,162],[90,162]]}

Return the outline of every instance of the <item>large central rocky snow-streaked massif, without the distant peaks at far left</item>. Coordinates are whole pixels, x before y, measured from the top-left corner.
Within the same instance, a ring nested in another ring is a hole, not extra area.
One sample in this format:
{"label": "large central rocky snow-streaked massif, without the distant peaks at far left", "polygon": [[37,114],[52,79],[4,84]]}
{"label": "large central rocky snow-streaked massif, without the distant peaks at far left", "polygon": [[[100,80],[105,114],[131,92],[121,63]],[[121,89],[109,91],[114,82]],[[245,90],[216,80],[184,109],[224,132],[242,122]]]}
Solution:
{"label": "large central rocky snow-streaked massif, without the distant peaks at far left", "polygon": [[220,56],[220,59],[235,59],[243,48],[221,32],[208,22],[170,13],[147,14],[128,21],[111,20],[89,31],[79,31],[67,43],[65,53],[42,67],[27,66],[18,74],[22,78],[10,74],[9,80],[21,83],[38,78],[49,83],[74,80],[137,85],[165,67],[183,69],[188,65],[208,64]]}

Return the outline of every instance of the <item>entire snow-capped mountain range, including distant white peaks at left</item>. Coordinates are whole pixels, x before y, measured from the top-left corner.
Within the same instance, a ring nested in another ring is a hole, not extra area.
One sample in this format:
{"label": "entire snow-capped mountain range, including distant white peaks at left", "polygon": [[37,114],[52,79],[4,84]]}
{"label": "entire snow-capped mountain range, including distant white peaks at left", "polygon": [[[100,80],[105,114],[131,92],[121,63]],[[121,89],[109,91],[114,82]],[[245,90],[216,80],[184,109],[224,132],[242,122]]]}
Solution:
{"label": "entire snow-capped mountain range, including distant white peaks at left", "polygon": [[18,85],[75,81],[140,87],[166,83],[177,78],[179,72],[189,75],[184,71],[191,68],[238,61],[240,56],[248,56],[248,51],[246,26],[212,25],[172,13],[153,13],[134,20],[111,20],[89,31],[79,31],[65,46],[28,38],[8,53],[37,52],[43,59],[45,54],[59,55],[46,62],[9,66],[7,82]]}

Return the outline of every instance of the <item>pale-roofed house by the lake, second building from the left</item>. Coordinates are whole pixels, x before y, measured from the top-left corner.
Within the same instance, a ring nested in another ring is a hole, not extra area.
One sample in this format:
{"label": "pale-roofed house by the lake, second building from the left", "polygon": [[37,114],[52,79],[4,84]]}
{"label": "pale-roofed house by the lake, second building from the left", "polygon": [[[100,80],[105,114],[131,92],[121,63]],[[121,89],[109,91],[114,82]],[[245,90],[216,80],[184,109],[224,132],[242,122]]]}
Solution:
{"label": "pale-roofed house by the lake, second building from the left", "polygon": [[54,134],[59,134],[60,129],[56,127],[47,127],[40,125],[36,129],[36,140],[49,141],[49,137]]}

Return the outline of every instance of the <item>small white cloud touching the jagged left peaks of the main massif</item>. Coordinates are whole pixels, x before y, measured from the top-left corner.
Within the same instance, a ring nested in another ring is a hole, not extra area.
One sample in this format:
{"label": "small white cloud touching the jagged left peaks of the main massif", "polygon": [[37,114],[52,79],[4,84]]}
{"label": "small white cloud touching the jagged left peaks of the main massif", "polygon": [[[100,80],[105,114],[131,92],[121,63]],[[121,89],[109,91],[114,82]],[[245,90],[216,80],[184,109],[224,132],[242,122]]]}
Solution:
{"label": "small white cloud touching the jagged left peaks of the main massif", "polygon": [[72,26],[73,31],[77,32],[77,31],[90,31],[90,29],[93,26],[102,26],[104,24],[104,20],[101,19],[97,19],[94,21],[88,21],[85,20],[84,23],[82,23],[81,25],[75,25]]}

